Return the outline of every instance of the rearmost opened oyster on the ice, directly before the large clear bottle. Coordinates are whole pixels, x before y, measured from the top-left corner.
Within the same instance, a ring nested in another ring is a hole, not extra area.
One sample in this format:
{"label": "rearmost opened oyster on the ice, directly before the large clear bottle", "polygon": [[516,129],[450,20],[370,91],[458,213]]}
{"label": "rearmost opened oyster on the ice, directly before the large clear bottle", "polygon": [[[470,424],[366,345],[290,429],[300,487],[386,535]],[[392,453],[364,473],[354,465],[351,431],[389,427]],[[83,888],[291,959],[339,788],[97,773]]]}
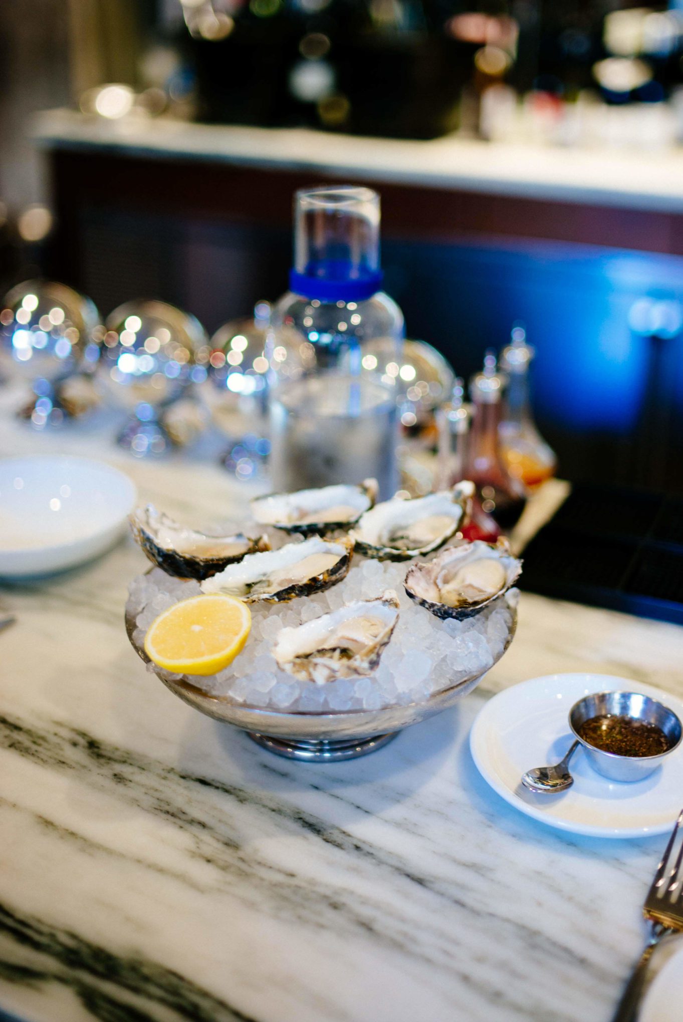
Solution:
{"label": "rearmost opened oyster on the ice, directly before the large clear bottle", "polygon": [[349,528],[372,507],[376,498],[377,480],[365,479],[358,486],[339,483],[257,497],[252,501],[252,514],[260,525],[273,525],[287,532],[308,536]]}

